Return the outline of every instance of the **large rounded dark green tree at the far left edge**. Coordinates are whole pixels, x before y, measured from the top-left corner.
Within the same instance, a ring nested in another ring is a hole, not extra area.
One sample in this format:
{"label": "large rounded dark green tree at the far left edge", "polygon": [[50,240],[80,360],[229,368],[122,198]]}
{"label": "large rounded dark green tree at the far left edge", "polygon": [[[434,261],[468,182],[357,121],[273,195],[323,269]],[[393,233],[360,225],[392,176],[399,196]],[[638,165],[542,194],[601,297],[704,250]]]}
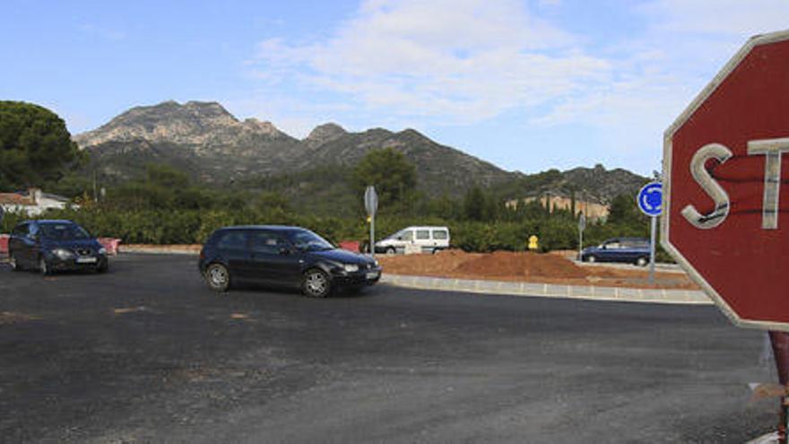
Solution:
{"label": "large rounded dark green tree at the far left edge", "polygon": [[54,112],[0,101],[0,187],[43,187],[84,159]]}

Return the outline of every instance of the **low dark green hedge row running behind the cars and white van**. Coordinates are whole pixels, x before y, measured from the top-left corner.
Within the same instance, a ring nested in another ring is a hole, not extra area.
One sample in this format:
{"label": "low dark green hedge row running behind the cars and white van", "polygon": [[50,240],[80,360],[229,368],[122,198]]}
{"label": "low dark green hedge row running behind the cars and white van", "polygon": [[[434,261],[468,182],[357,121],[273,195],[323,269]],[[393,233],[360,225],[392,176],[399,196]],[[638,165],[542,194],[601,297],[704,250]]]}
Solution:
{"label": "low dark green hedge row running behind the cars and white van", "polygon": [[[100,208],[49,211],[48,219],[68,219],[81,224],[99,237],[122,239],[124,243],[193,244],[202,243],[212,231],[230,225],[286,224],[299,225],[338,242],[344,239],[368,239],[368,223],[362,219],[305,216],[273,211],[230,210],[146,210],[135,212],[106,211]],[[11,230],[24,219],[22,214],[6,214],[2,232]],[[571,218],[549,217],[525,222],[456,222],[439,218],[383,217],[376,220],[377,239],[409,225],[447,225],[452,244],[466,251],[520,251],[530,236],[539,238],[540,249],[578,248],[577,222]],[[593,223],[585,231],[585,246],[611,237],[646,236],[647,227]]]}

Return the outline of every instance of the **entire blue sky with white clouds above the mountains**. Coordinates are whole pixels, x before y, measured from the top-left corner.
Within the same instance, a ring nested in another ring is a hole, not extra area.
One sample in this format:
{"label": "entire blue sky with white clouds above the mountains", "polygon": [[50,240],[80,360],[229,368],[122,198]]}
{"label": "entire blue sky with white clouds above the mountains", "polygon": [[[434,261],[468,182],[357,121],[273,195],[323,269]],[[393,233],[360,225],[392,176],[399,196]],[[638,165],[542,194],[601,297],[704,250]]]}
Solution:
{"label": "entire blue sky with white clouds above the mountains", "polygon": [[72,133],[217,100],[296,137],[412,127],[506,170],[658,170],[663,130],[786,0],[0,5],[0,99]]}

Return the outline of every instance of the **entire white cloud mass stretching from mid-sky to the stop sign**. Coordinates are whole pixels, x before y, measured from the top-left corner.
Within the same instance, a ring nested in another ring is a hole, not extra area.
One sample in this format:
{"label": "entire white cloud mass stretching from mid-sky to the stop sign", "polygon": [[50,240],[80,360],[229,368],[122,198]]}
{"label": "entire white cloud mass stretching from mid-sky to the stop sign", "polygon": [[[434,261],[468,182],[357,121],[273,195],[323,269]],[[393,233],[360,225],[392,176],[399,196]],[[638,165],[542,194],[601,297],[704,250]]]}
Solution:
{"label": "entire white cloud mass stretching from mid-sky to the stop sign", "polygon": [[597,36],[538,15],[567,10],[559,0],[532,3],[535,11],[516,0],[368,0],[326,39],[261,42],[249,68],[269,91],[307,91],[310,103],[286,118],[331,118],[342,103],[374,125],[399,118],[424,128],[516,111],[526,131],[591,127],[601,158],[652,165],[663,130],[737,48],[789,23],[787,0],[648,0],[625,6],[646,26],[592,47]]}

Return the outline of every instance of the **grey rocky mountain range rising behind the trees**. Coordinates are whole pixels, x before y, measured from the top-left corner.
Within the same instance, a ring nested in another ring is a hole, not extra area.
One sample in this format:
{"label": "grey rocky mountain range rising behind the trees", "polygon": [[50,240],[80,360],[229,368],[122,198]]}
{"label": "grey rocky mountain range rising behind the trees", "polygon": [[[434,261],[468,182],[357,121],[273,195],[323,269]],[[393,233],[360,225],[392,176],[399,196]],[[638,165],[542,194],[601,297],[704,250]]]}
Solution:
{"label": "grey rocky mountain range rising behind the trees", "polygon": [[[535,175],[508,172],[413,129],[392,132],[374,128],[352,133],[327,123],[299,140],[270,122],[238,120],[216,102],[166,101],[129,109],[106,125],[74,136],[74,140],[90,152],[89,168],[107,181],[134,178],[146,164],[160,162],[217,185],[286,175],[308,181],[312,170],[321,170],[325,182],[342,182],[367,152],[389,147],[403,152],[416,165],[417,182],[428,196],[457,197],[474,185],[495,185],[502,197],[585,190],[587,196],[605,202],[646,181],[627,170],[603,167]],[[328,174],[337,177],[329,180]]]}

